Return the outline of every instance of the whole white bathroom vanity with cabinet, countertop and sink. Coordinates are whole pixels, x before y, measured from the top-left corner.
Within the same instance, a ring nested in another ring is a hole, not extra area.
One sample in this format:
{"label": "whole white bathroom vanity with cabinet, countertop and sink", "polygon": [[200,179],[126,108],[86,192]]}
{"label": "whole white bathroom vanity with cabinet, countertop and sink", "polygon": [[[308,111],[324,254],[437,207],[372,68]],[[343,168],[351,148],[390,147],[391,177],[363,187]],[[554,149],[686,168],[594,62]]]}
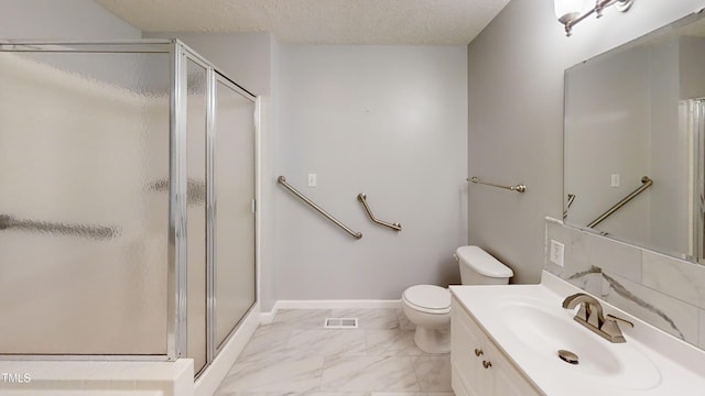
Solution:
{"label": "whole white bathroom vanity with cabinet, countertop and sink", "polygon": [[[457,396],[702,395],[705,352],[599,301],[633,322],[612,343],[563,300],[583,290],[544,272],[540,285],[451,286],[452,383]],[[565,352],[573,359],[565,359]],[[560,358],[560,354],[564,359]]]}

